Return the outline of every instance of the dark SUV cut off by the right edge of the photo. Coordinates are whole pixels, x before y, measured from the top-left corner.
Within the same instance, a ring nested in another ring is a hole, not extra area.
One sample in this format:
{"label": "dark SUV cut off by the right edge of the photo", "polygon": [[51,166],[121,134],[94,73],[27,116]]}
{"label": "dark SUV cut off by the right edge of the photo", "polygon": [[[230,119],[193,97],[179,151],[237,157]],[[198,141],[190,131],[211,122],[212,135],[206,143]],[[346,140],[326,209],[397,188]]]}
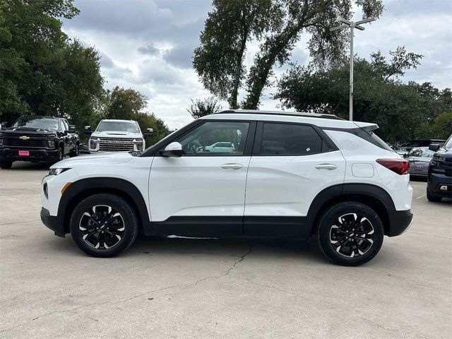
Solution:
{"label": "dark SUV cut off by the right edge of the photo", "polygon": [[441,201],[441,198],[452,198],[452,135],[442,147],[432,144],[429,150],[435,153],[427,174],[427,199]]}

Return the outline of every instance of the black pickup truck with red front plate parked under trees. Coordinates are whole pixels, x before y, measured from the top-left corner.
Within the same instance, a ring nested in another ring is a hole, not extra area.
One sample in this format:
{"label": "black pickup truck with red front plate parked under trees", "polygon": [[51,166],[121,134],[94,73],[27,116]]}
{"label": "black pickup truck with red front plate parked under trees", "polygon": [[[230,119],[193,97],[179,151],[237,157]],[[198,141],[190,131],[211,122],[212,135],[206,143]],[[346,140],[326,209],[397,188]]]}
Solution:
{"label": "black pickup truck with red front plate parked under trees", "polygon": [[73,125],[59,117],[24,116],[8,129],[1,126],[0,167],[14,161],[57,162],[78,155],[80,140]]}

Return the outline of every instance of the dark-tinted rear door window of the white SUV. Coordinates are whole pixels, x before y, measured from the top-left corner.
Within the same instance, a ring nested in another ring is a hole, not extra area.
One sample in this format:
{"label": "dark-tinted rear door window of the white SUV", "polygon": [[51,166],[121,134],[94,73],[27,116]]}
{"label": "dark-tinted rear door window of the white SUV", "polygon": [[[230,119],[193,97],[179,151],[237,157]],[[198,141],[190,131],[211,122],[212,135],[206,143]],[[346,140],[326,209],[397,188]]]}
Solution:
{"label": "dark-tinted rear door window of the white SUV", "polygon": [[322,139],[311,126],[263,125],[261,155],[309,155],[321,150]]}

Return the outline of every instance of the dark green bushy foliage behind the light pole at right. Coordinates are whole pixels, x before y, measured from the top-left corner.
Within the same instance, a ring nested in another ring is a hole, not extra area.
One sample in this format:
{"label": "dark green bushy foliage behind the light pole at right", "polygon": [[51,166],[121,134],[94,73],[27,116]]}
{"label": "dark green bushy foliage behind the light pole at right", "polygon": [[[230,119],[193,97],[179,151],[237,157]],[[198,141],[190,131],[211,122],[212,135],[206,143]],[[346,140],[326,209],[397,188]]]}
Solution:
{"label": "dark green bushy foliage behind the light pole at right", "polygon": [[[452,112],[451,90],[439,90],[430,83],[402,83],[398,78],[406,69],[415,68],[422,56],[399,47],[391,57],[388,61],[377,52],[371,54],[370,61],[355,61],[353,119],[376,122],[379,134],[387,141],[431,138],[434,119]],[[342,62],[328,69],[293,66],[278,83],[275,99],[280,99],[283,107],[347,119],[350,67],[346,59]]]}

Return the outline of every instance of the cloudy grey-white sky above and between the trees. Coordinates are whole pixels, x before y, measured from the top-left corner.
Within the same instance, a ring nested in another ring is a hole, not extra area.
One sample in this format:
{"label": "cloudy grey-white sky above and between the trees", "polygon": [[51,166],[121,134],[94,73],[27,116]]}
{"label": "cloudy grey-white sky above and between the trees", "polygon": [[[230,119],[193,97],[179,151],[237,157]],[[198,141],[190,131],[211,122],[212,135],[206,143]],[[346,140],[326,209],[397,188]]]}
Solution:
{"label": "cloudy grey-white sky above and between the trees", "polygon": [[[452,87],[452,1],[386,0],[383,16],[355,34],[355,52],[368,57],[378,49],[385,55],[405,45],[408,52],[424,55],[417,70],[404,81],[429,81],[438,88]],[[191,98],[208,97],[191,68],[210,0],[76,0],[81,13],[64,20],[64,31],[102,56],[107,88],[116,85],[141,91],[148,97],[148,111],[165,120],[171,129],[191,121],[186,112]],[[355,20],[362,18],[357,9]],[[302,35],[292,61],[309,62]],[[249,46],[251,64],[258,44]],[[275,69],[278,77],[284,69]],[[262,98],[261,109],[277,109],[273,88]],[[222,102],[222,107],[227,104]]]}

